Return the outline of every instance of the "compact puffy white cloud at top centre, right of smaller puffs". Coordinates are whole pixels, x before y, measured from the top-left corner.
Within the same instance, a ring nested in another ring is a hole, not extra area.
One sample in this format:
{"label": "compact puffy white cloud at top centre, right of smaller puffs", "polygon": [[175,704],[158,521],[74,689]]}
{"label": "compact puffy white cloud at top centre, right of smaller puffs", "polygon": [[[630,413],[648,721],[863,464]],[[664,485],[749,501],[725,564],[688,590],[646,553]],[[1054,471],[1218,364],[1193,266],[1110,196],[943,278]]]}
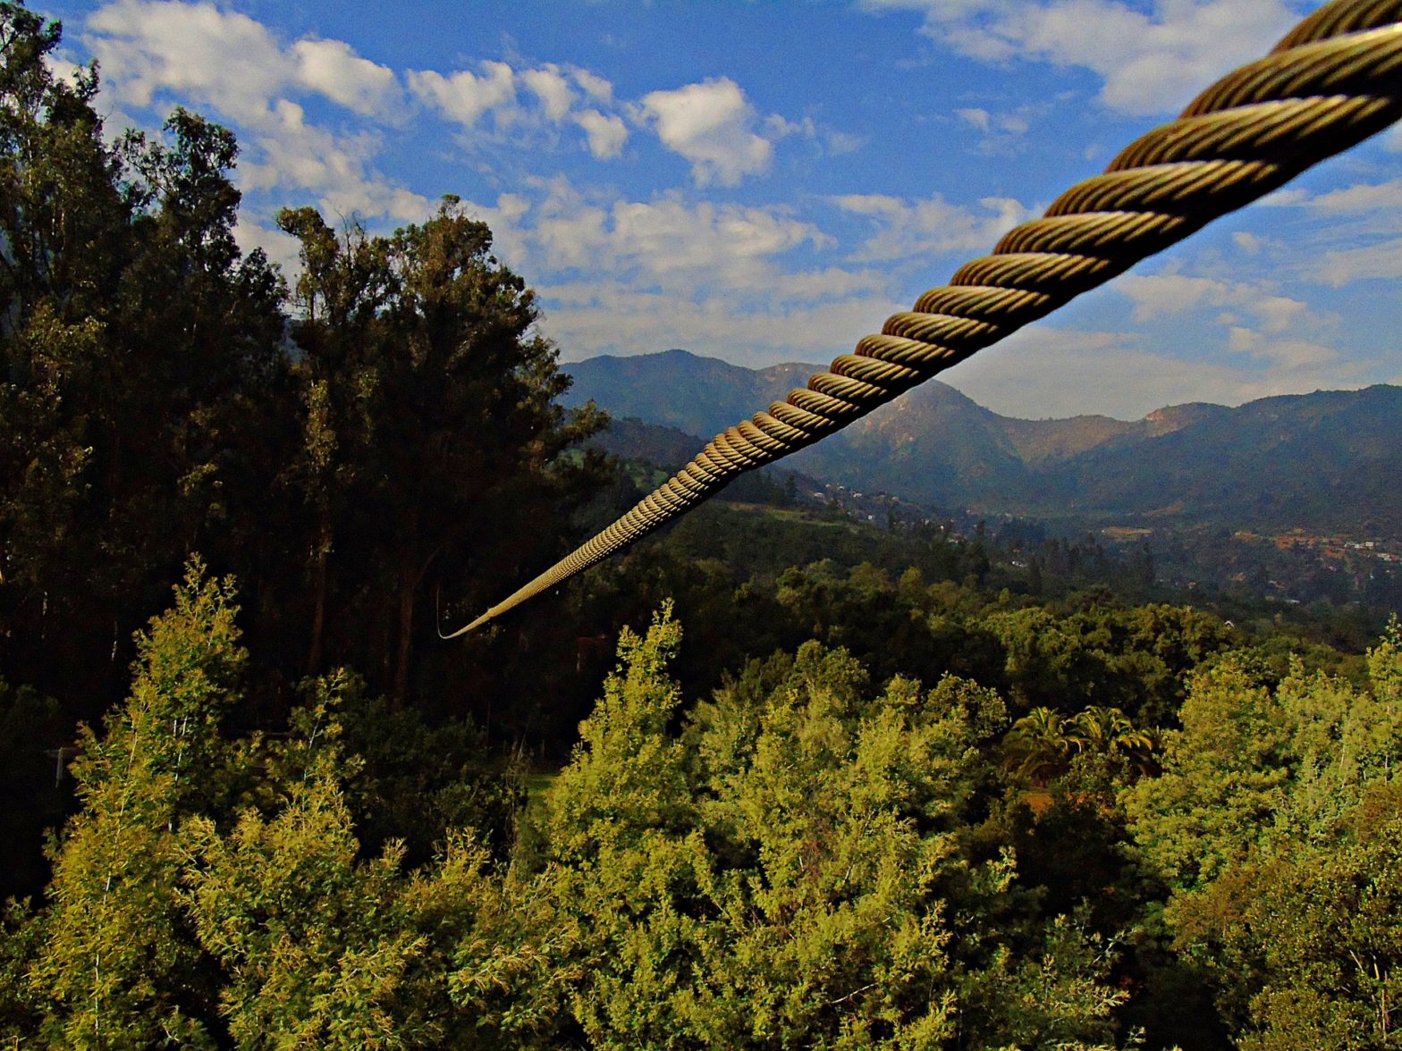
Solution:
{"label": "compact puffy white cloud at top centre, right of smaller puffs", "polygon": [[729,77],[651,91],[641,114],[662,144],[691,161],[698,186],[735,186],[768,170],[774,147],[754,132],[756,112]]}

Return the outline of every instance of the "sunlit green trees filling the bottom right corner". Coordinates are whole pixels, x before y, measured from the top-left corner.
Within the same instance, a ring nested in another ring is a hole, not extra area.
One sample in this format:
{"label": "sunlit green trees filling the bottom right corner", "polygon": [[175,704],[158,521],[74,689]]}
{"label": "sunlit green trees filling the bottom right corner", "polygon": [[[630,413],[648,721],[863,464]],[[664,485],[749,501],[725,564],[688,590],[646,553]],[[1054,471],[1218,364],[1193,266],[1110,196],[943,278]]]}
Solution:
{"label": "sunlit green trees filling the bottom right corner", "polygon": [[1298,666],[1274,689],[1239,666],[1200,675],[1164,776],[1126,796],[1164,918],[1242,1047],[1398,1045],[1399,653],[1394,628],[1363,691]]}

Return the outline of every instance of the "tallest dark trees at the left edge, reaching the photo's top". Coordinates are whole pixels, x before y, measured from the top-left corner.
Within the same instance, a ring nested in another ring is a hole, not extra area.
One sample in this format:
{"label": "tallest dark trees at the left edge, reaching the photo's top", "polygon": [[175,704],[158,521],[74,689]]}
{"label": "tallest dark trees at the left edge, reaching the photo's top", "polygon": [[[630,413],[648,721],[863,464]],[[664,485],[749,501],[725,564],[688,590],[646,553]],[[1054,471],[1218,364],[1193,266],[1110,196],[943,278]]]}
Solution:
{"label": "tallest dark trees at the left edge, reaching the photo's top", "polygon": [[271,561],[283,289],[234,242],[233,136],[177,111],[109,144],[59,41],[0,3],[0,638],[17,678],[108,701],[191,549]]}

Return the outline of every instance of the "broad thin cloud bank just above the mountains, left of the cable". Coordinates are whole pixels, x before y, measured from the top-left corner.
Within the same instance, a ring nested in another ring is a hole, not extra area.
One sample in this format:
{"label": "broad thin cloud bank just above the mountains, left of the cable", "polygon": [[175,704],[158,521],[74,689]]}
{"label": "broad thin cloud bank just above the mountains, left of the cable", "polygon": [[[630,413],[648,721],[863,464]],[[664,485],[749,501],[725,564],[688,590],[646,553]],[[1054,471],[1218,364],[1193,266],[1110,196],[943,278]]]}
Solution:
{"label": "broad thin cloud bank just above the mountains, left of the cable", "polygon": [[512,265],[533,275],[566,359],[686,346],[747,364],[827,360],[901,305],[885,270],[813,265],[836,242],[782,206],[632,200],[564,178],[533,189]]}

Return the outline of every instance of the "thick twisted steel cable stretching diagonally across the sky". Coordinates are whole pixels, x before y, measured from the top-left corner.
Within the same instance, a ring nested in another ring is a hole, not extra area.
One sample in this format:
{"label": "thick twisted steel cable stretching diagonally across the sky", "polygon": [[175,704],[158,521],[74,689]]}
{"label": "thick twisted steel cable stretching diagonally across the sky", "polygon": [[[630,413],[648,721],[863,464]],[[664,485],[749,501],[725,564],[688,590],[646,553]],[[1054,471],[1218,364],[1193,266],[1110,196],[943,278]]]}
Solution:
{"label": "thick twisted steel cable stretching diagonally across the sky", "polygon": [[446,638],[601,562],[736,475],[845,427],[1211,220],[1402,116],[1402,0],[1335,0],[1263,59],[1228,73],[1105,174],[1009,231],[993,255],[893,314],[806,388],[716,434],[618,521]]}

